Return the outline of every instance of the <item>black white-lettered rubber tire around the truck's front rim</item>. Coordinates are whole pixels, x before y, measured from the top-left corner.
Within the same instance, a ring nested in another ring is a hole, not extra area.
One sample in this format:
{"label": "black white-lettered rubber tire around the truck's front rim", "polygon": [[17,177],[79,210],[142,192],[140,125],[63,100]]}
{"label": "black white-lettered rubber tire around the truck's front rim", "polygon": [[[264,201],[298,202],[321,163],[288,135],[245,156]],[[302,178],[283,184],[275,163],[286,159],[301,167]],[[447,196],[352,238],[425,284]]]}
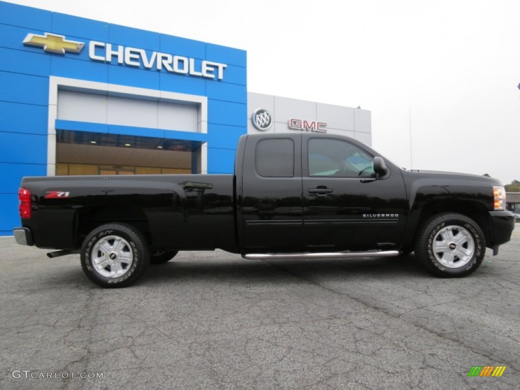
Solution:
{"label": "black white-lettered rubber tire around the truck's front rim", "polygon": [[[435,236],[446,226],[459,226],[466,229],[470,233],[475,245],[475,250],[470,261],[457,268],[449,268],[439,263],[433,251]],[[423,232],[423,238],[426,238],[425,248],[416,249],[415,253],[421,253],[423,263],[425,263],[427,268],[430,268],[430,270],[440,276],[457,277],[471,274],[471,272],[480,266],[486,252],[486,243],[482,230],[473,220],[463,215],[448,214],[434,218],[431,223],[426,226]]]}

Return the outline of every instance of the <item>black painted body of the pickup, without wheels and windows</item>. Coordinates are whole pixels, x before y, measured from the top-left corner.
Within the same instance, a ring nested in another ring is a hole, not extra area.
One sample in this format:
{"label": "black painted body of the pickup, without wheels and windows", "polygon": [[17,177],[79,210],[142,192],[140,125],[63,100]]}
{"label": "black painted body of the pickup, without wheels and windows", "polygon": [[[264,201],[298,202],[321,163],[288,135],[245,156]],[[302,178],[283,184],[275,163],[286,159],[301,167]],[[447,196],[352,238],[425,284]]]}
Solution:
{"label": "black painted body of the pickup, without wheels and windows", "polygon": [[[317,138],[379,155],[336,135],[247,135],[239,141],[234,175],[26,177],[21,186],[32,193],[32,218],[22,226],[36,246],[53,249],[78,249],[96,226],[123,222],[144,232],[152,250],[407,250],[426,218],[457,212],[480,225],[489,248],[510,240],[513,215],[493,211],[498,180],[405,171],[386,159],[388,171],[379,177],[316,177],[309,175],[307,148]],[[292,145],[290,174],[283,173],[287,167],[280,167],[282,177],[258,173],[263,140]],[[69,196],[45,198],[50,191]]]}

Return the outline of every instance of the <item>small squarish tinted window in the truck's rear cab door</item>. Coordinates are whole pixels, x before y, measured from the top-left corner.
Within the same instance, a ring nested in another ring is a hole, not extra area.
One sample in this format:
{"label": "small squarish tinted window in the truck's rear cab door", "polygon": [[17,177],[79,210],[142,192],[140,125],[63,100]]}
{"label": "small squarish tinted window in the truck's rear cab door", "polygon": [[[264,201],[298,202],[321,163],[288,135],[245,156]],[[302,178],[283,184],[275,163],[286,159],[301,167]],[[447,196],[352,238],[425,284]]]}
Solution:
{"label": "small squarish tinted window in the truck's rear cab door", "polygon": [[293,177],[293,140],[268,138],[258,142],[256,145],[256,172],[263,177]]}

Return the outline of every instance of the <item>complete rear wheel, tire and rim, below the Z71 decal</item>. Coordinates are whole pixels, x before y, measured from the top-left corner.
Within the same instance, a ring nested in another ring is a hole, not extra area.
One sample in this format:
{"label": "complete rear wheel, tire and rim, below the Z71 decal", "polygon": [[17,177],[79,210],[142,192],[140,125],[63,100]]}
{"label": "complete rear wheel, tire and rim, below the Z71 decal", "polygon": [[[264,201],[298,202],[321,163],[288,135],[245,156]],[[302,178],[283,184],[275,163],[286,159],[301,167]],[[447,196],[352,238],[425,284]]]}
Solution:
{"label": "complete rear wheel, tire and rim, below the Z71 decal", "polygon": [[127,287],[144,274],[149,263],[146,239],[126,224],[97,227],[81,247],[81,266],[85,275],[105,288]]}

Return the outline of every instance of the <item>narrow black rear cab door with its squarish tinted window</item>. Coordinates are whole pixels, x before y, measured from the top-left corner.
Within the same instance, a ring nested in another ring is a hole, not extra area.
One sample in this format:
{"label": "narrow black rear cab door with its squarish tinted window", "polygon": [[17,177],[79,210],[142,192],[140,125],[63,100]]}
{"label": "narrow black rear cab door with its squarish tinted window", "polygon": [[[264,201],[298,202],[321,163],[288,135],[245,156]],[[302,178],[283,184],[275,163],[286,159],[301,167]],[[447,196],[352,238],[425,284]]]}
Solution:
{"label": "narrow black rear cab door with its squarish tinted window", "polygon": [[[237,175],[242,248],[302,246],[301,135],[248,136]],[[240,232],[239,232],[240,236]]]}

